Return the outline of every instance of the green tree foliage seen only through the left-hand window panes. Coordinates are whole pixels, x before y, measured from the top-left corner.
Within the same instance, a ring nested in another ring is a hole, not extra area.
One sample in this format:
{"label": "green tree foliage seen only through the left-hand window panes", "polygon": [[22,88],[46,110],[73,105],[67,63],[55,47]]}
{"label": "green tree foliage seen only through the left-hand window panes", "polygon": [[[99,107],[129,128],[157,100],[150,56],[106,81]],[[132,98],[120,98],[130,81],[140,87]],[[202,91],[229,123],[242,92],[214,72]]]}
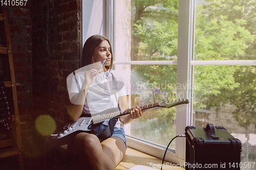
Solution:
{"label": "green tree foliage seen only through the left-hand window panes", "polygon": [[[132,1],[132,60],[159,61],[177,56],[178,41],[178,1]],[[177,66],[135,65],[133,69],[150,84],[160,84],[160,92],[173,94],[168,84],[176,84]],[[166,79],[167,78],[167,79]],[[162,84],[167,84],[163,89]],[[163,95],[162,95],[163,96]],[[166,99],[166,98],[165,98]],[[162,100],[165,100],[162,99]],[[173,98],[172,98],[173,99]]]}

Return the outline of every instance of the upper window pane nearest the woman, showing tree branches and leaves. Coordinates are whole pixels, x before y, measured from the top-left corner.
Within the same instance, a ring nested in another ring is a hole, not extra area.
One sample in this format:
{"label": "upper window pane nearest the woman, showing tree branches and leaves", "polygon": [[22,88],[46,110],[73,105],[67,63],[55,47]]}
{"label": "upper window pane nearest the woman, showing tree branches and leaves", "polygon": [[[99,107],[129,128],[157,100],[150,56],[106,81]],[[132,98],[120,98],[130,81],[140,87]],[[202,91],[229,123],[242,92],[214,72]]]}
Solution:
{"label": "upper window pane nearest the woman, showing tree branches and leaves", "polygon": [[132,0],[131,13],[131,60],[177,60],[178,0]]}

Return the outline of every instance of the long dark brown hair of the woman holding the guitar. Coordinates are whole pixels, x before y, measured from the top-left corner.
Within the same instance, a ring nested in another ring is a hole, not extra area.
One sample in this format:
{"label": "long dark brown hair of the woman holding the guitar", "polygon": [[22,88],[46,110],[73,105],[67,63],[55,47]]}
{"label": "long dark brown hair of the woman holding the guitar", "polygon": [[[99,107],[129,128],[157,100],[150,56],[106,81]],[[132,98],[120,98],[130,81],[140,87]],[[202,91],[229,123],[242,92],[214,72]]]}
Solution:
{"label": "long dark brown hair of the woman holding the guitar", "polygon": [[[110,41],[101,35],[93,35],[86,40],[82,49],[81,67],[92,64],[94,49],[104,40],[108,41],[110,44]],[[111,47],[111,44],[110,44],[110,47]],[[113,65],[112,48],[110,53],[111,53],[110,65],[105,66],[105,68],[108,68],[108,69],[111,69]]]}

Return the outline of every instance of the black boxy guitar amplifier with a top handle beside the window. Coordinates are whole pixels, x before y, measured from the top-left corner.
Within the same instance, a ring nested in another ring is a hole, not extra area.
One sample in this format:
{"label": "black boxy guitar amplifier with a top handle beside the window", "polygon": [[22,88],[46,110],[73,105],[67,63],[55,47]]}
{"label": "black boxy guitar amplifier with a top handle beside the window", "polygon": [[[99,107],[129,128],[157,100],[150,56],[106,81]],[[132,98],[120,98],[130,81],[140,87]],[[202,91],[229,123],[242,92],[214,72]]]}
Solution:
{"label": "black boxy guitar amplifier with a top handle beside the window", "polygon": [[188,126],[186,135],[186,170],[240,169],[242,143],[224,127],[208,124],[206,128]]}

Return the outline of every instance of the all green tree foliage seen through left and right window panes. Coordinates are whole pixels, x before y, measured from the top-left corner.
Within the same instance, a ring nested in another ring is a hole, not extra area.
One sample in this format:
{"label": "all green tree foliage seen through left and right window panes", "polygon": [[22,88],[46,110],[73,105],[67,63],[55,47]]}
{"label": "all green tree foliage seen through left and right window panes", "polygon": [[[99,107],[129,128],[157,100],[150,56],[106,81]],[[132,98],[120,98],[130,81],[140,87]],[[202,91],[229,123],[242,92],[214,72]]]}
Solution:
{"label": "all green tree foliage seen through left and right window panes", "polygon": [[[197,5],[195,60],[254,59],[256,1],[205,0]],[[177,56],[178,0],[132,1],[132,60]],[[176,66],[132,66],[146,83],[176,82]],[[240,126],[256,124],[254,66],[195,66],[194,108],[232,104]],[[174,88],[166,88],[174,94]],[[161,91],[161,89],[160,89]]]}

